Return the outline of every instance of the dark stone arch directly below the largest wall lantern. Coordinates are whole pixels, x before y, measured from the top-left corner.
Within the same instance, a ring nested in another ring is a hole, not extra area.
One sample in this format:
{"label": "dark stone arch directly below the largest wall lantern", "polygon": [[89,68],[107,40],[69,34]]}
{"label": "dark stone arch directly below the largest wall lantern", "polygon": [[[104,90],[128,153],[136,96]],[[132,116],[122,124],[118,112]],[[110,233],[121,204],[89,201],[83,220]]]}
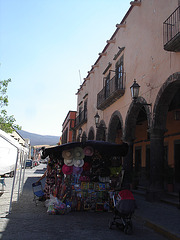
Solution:
{"label": "dark stone arch directly below the largest wall lantern", "polygon": [[123,140],[127,142],[132,142],[135,139],[135,128],[138,115],[140,111],[146,114],[148,129],[151,128],[151,106],[148,105],[143,97],[139,97],[136,102],[133,101],[128,109],[125,127],[123,132]]}

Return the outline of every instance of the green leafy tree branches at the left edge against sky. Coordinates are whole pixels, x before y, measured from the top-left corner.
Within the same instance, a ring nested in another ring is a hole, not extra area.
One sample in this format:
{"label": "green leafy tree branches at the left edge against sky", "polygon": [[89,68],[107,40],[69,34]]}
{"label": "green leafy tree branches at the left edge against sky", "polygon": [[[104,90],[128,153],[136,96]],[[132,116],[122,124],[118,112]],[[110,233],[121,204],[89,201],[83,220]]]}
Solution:
{"label": "green leafy tree branches at the left edge against sky", "polygon": [[0,81],[0,129],[7,133],[13,132],[14,128],[21,129],[19,125],[15,124],[14,116],[8,116],[7,111],[4,109],[4,107],[8,106],[7,88],[10,82],[10,78]]}

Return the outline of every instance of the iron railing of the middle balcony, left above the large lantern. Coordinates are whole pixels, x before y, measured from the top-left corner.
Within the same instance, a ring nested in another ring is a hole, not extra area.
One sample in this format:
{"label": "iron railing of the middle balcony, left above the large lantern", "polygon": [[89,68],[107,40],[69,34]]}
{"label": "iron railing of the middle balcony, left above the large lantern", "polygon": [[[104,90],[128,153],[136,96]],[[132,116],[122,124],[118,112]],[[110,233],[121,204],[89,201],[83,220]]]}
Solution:
{"label": "iron railing of the middle balcony, left above the large lantern", "polygon": [[97,109],[104,110],[124,95],[125,73],[120,78],[115,75],[97,94]]}

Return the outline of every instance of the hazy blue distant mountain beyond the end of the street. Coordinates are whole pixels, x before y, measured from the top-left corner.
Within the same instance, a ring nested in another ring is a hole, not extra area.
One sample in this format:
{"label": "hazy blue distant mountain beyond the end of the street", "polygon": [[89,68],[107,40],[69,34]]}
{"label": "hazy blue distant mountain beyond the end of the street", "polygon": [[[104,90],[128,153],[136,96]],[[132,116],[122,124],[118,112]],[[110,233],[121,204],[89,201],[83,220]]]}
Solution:
{"label": "hazy blue distant mountain beyond the end of the street", "polygon": [[35,133],[26,132],[24,130],[16,130],[23,138],[30,139],[30,145],[56,145],[59,142],[58,136],[39,135]]}

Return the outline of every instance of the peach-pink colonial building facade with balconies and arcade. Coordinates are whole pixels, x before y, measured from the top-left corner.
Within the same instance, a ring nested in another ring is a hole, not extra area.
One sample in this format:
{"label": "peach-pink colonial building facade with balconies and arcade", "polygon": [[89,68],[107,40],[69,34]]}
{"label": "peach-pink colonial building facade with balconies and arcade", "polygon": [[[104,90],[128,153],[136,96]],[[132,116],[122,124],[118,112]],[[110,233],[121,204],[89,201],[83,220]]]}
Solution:
{"label": "peach-pink colonial building facade with balconies and arcade", "polygon": [[[133,98],[132,85],[139,88]],[[132,1],[84,78],[77,98],[73,128],[77,140],[127,142],[129,152],[123,163],[130,181],[136,178],[156,196],[167,189],[171,178],[177,191],[180,2]],[[95,115],[100,120],[97,126]]]}

